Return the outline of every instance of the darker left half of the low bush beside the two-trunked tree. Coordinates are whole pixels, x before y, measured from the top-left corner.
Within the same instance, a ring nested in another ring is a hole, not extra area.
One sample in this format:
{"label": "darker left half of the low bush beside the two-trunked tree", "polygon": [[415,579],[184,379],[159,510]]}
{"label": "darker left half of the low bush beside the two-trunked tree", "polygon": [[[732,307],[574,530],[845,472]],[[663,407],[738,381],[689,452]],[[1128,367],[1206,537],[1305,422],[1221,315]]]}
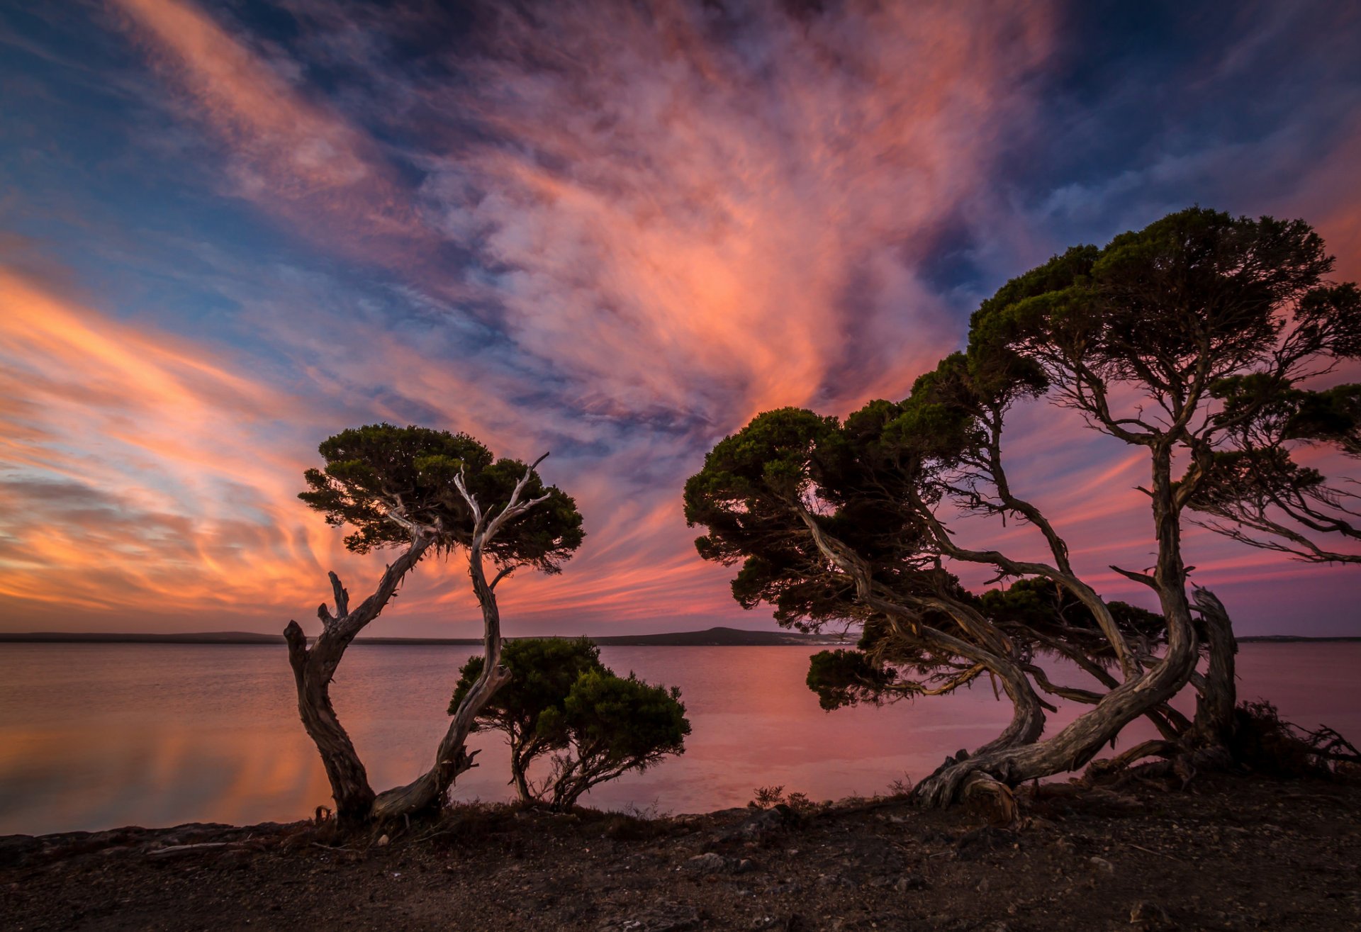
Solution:
{"label": "darker left half of the low bush beside the two-trunked tree", "polygon": [[[587,672],[604,671],[600,648],[588,638],[519,638],[508,641],[501,663],[510,673],[474,720],[474,731],[505,732],[510,743],[510,782],[521,803],[535,801],[529,786],[529,765],[548,751],[566,746],[561,728],[540,728],[546,713],[559,716],[572,687]],[[459,671],[459,684],[449,702],[456,714],[468,691],[482,676],[486,663],[472,656]],[[561,722],[561,717],[554,718]]]}

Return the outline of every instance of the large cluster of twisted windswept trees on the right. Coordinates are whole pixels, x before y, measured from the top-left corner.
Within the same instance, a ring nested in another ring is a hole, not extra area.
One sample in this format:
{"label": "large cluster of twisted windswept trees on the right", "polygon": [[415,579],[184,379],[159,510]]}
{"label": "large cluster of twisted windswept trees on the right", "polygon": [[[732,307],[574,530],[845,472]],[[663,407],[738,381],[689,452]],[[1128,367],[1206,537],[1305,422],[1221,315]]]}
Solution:
{"label": "large cluster of twisted windswept trees on the right", "polygon": [[[1164,735],[1177,739],[1141,751],[1222,744],[1233,710],[1232,629],[1211,593],[1198,590],[1192,604],[1184,513],[1281,392],[1357,356],[1356,290],[1327,282],[1331,267],[1307,223],[1199,208],[1105,248],[1070,249],[985,301],[968,350],[919,378],[904,401],[874,401],[845,423],[768,412],[720,442],[686,486],[687,518],[708,528],[700,552],[742,562],[735,596],[774,604],[781,622],[871,623],[868,646],[896,645],[896,659],[881,656],[925,671],[919,684],[949,687],[979,664],[1000,679],[1017,706],[1013,727],[947,759],[919,785],[924,803],[947,803],[983,780],[1015,784],[1079,767],[1139,716],[1161,718]],[[1253,395],[1236,384],[1277,388]],[[1072,566],[1062,529],[1011,482],[1007,419],[1033,403],[1075,410],[1089,427],[1145,452],[1154,565],[1116,569],[1155,595],[1157,631],[1098,596]],[[961,510],[1029,524],[1048,558],[964,546],[950,527]],[[1028,653],[1044,642],[1045,626],[1022,619],[1018,630],[1004,605],[951,593],[932,569],[943,562],[1043,580],[1063,603],[1079,604],[1083,637],[1059,642],[1077,650],[1070,659],[1109,663],[1112,672],[1098,676],[1106,691],[1092,693],[1087,712],[1037,742]],[[1102,644],[1093,645],[1097,631]],[[1211,663],[1199,676],[1203,646]],[[837,663],[874,667],[866,654]],[[1202,693],[1195,727],[1166,710],[1188,682]]]}

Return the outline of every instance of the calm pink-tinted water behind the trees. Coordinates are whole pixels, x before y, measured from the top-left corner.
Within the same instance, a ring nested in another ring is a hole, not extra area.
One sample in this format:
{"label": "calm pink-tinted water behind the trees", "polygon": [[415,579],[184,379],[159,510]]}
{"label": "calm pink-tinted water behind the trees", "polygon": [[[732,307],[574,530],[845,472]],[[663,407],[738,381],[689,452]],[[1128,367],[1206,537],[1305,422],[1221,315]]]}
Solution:
{"label": "calm pink-tinted water behind the trees", "polygon": [[[988,686],[883,709],[825,713],[806,648],[604,648],[619,673],[679,686],[694,733],[683,756],[587,800],[697,812],[783,784],[813,799],[871,795],[930,773],[1009,720]],[[429,765],[468,648],[355,646],[332,687],[373,785]],[[1302,725],[1361,736],[1361,644],[1244,645],[1240,695]],[[1070,676],[1070,682],[1079,682]],[[1049,731],[1075,709],[1051,717]],[[1147,736],[1131,729],[1126,740]],[[499,735],[460,799],[509,799]],[[293,820],[329,801],[294,706],[283,646],[0,645],[0,834]]]}

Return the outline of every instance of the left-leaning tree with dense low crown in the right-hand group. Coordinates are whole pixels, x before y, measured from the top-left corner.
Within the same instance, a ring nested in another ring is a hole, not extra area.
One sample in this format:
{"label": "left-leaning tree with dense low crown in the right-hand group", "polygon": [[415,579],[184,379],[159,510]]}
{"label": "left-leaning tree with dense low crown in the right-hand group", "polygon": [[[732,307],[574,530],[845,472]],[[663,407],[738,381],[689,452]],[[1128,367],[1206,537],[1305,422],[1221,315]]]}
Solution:
{"label": "left-leaning tree with dense low crown in the right-hand group", "polygon": [[758,415],[686,483],[686,518],[708,528],[697,547],[705,559],[740,562],[734,596],[747,608],[772,604],[781,625],[875,631],[872,664],[915,667],[917,693],[995,678],[1014,714],[987,748],[1029,744],[1044,729],[1045,703],[1025,657],[940,569],[915,514],[919,498],[938,498],[928,478],[958,419],[927,412],[928,429],[886,433],[900,414],[879,401],[844,425],[796,408]]}

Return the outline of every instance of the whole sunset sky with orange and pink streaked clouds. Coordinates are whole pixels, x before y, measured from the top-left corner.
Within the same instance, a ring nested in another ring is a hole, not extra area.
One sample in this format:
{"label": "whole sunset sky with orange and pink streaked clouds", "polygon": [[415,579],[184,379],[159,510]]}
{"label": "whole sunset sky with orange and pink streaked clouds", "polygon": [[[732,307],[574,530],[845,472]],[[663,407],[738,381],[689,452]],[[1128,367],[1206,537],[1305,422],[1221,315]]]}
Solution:
{"label": "whole sunset sky with orange and pink streaked clouds", "polygon": [[[901,399],[1009,278],[1191,204],[1361,279],[1357,49],[1331,1],[10,0],[0,630],[317,627],[382,555],[301,473],[378,420],[551,452],[588,536],[508,634],[773,627],[682,517],[717,439]],[[1010,439],[1147,603],[1146,463],[1052,407]],[[1356,566],[1187,552],[1240,634],[1361,635]],[[455,556],[369,633],[479,630]]]}

